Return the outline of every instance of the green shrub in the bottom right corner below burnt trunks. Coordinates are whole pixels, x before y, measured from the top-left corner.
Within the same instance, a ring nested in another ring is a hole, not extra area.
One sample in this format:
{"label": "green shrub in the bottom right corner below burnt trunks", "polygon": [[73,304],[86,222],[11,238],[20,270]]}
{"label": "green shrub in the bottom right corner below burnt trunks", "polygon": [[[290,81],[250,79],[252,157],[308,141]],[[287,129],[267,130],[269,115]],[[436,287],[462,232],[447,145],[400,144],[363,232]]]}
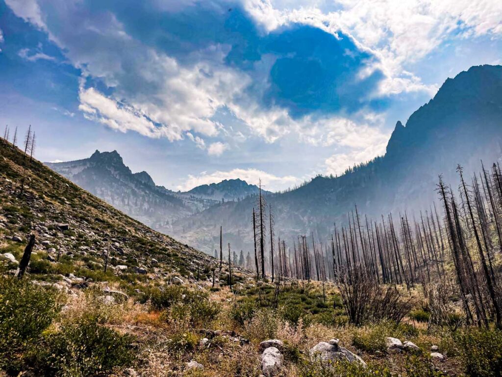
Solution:
{"label": "green shrub in the bottom right corner below burnt trunks", "polygon": [[469,329],[456,341],[465,371],[472,377],[495,377],[502,371],[502,331]]}

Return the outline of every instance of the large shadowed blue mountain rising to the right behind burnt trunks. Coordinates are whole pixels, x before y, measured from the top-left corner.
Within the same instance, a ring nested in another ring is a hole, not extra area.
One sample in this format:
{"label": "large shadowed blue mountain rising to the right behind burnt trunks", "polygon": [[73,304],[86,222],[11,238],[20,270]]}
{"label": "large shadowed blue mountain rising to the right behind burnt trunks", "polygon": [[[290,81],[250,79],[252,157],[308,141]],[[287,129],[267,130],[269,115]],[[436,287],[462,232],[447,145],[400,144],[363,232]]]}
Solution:
{"label": "large shadowed blue mountain rising to the right behind burnt trunks", "polygon": [[[296,190],[267,195],[275,234],[290,243],[311,232],[327,240],[333,223],[346,223],[354,205],[359,214],[373,218],[404,211],[420,216],[418,211],[429,210],[437,198],[439,174],[455,187],[457,164],[466,173],[478,171],[480,159],[497,161],[501,151],[502,66],[471,67],[448,78],[406,125],[397,122],[384,156],[339,177],[317,176]],[[251,250],[254,206],[256,198],[218,204],[177,221],[173,231],[212,252],[222,225],[225,243]]]}

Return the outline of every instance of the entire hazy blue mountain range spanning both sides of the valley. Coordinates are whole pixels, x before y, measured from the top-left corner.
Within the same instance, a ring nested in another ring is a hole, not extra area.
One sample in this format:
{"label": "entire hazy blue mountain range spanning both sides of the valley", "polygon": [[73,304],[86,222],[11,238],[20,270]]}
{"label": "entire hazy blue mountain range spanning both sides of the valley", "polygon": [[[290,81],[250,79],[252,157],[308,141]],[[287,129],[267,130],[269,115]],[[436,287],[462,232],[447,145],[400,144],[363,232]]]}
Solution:
{"label": "entire hazy blue mountain range spanning both sides of the valley", "polygon": [[[265,193],[275,213],[275,233],[287,242],[313,232],[327,240],[334,222],[359,214],[377,217],[408,211],[420,216],[436,199],[438,175],[456,184],[458,163],[466,173],[502,156],[502,66],[476,66],[448,78],[434,99],[397,122],[384,156],[342,176],[317,176],[281,194]],[[132,173],[116,151],[48,163],[119,210],[194,247],[212,253],[223,237],[234,249],[253,244],[252,209],[258,187],[235,179],[176,193],[155,185],[145,171]],[[415,212],[413,212],[415,211]]]}

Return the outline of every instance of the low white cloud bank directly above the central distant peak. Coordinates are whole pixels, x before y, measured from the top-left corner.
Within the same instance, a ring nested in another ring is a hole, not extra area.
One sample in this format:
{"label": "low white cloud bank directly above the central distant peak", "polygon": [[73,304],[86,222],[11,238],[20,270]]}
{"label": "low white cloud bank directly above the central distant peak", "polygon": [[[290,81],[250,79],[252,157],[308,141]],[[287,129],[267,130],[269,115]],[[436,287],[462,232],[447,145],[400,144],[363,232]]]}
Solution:
{"label": "low white cloud bank directly above the central distant peak", "polygon": [[218,183],[223,179],[240,178],[249,184],[258,184],[260,179],[265,190],[285,190],[300,183],[300,179],[292,175],[277,176],[259,169],[232,169],[229,171],[215,171],[213,173],[202,172],[200,175],[188,175],[188,178],[180,185],[178,190],[189,191],[201,184]]}

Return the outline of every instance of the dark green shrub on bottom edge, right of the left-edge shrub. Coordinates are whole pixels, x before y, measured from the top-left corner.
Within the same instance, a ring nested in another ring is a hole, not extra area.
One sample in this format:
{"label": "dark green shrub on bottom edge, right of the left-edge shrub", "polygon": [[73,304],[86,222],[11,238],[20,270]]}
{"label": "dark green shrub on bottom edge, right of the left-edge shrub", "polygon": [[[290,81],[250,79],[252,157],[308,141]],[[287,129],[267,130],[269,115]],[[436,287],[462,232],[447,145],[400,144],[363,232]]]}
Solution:
{"label": "dark green shrub on bottom edge, right of the left-edge shrub", "polygon": [[90,377],[133,361],[132,338],[100,325],[92,316],[45,334],[33,355],[37,373],[44,377]]}

